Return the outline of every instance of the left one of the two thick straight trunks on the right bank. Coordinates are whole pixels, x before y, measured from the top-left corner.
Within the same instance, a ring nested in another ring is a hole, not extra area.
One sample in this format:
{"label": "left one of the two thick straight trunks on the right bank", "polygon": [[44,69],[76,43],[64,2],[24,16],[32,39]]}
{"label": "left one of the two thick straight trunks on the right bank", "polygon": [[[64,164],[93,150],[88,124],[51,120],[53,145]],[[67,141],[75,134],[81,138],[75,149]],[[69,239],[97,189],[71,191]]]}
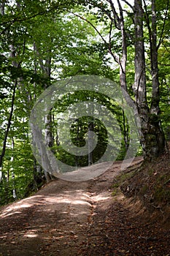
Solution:
{"label": "left one of the two thick straight trunks on the right bank", "polygon": [[147,155],[147,132],[149,120],[149,107],[147,105],[146,93],[146,72],[145,72],[145,57],[144,57],[144,35],[143,35],[143,19],[144,12],[142,9],[142,0],[134,1],[134,26],[135,26],[135,78],[133,91],[137,111],[141,123],[141,143],[144,151],[144,157]]}

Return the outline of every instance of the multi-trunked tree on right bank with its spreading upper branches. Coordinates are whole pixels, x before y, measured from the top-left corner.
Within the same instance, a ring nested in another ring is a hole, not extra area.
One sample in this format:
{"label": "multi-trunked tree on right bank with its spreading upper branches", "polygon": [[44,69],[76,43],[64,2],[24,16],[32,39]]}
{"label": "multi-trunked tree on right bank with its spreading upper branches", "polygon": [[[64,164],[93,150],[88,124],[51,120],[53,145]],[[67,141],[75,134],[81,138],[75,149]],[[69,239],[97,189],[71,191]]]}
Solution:
{"label": "multi-trunked tree on right bank with its spreading upper branches", "polygon": [[[126,8],[123,9],[123,4],[117,0],[118,10],[115,7],[115,1],[79,1],[80,4],[86,4],[90,10],[93,7],[97,8],[98,22],[103,19],[105,23],[109,20],[108,41],[98,31],[97,26],[93,26],[90,20],[87,20],[108,48],[109,53],[115,59],[120,67],[120,86],[123,88],[123,94],[129,105],[134,105],[134,113],[139,117],[141,124],[141,143],[144,153],[144,158],[152,160],[163,154],[165,150],[165,138],[161,127],[161,110],[160,110],[160,90],[159,90],[159,75],[158,75],[158,49],[160,48],[165,24],[167,23],[169,12],[169,1],[164,6],[166,15],[161,15],[163,18],[163,26],[158,37],[158,1],[135,0],[134,6],[128,1],[123,0]],[[128,8],[127,8],[128,6]],[[131,17],[131,24],[128,18]],[[85,19],[85,18],[82,18]],[[128,22],[128,24],[127,24]],[[129,29],[129,27],[131,29]],[[160,28],[159,28],[160,29]],[[114,41],[115,30],[120,31],[119,34],[119,50],[118,54],[112,41]],[[132,33],[132,31],[133,33]],[[146,38],[149,38],[149,42]],[[121,39],[121,46],[120,46]],[[134,84],[132,86],[133,94],[131,95],[131,86],[127,83],[127,61],[129,41],[134,45]],[[148,102],[148,89],[146,69],[148,59],[146,60],[146,51],[150,48],[150,74],[152,80],[152,95]]]}

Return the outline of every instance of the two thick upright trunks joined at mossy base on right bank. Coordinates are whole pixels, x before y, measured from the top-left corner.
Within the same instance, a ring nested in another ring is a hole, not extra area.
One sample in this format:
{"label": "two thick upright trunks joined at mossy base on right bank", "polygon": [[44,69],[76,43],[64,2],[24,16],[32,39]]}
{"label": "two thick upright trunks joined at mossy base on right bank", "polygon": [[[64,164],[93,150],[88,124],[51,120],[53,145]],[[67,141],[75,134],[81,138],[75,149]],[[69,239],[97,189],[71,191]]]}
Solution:
{"label": "two thick upright trunks joined at mossy base on right bank", "polygon": [[134,1],[135,15],[135,82],[134,94],[142,129],[142,148],[144,159],[152,160],[161,155],[165,148],[165,139],[159,121],[159,82],[158,82],[158,53],[156,48],[156,20],[155,6],[152,1],[152,45],[151,69],[152,69],[152,103],[151,108],[147,104],[146,73],[144,57],[143,20],[144,11],[142,0]]}

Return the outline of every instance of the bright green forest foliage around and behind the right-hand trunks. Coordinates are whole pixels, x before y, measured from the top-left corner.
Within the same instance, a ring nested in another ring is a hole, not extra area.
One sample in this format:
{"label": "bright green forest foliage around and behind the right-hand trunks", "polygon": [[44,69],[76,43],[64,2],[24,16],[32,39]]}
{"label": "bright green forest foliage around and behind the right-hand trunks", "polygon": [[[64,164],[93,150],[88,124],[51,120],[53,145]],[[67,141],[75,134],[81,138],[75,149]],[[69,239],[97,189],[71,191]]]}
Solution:
{"label": "bright green forest foliage around and behind the right-hand trunks", "polygon": [[[150,1],[147,1],[150,12]],[[169,12],[166,1],[157,1],[158,8],[158,50],[159,80],[161,95],[161,122],[170,139],[169,120]],[[126,8],[125,29],[128,33],[127,47],[127,86],[134,99],[134,14]],[[26,195],[26,188],[42,173],[41,167],[34,159],[28,140],[28,119],[35,100],[53,81],[73,75],[101,75],[120,83],[118,65],[109,48],[121,56],[120,29],[113,29],[107,1],[1,1],[1,44],[0,44],[0,145],[3,148],[7,132],[9,113],[12,109],[12,92],[15,91],[14,110],[9,122],[7,145],[0,169],[0,204],[14,200],[13,189],[17,198]],[[164,22],[163,18],[167,15]],[[164,22],[164,23],[163,23]],[[112,26],[112,31],[110,30]],[[163,30],[164,26],[164,30]],[[95,29],[96,28],[96,29]],[[147,23],[144,23],[146,44],[150,38],[147,34]],[[103,39],[106,39],[105,41]],[[108,43],[108,37],[109,43]],[[150,49],[146,50],[147,64],[150,60]],[[151,103],[151,75],[147,68],[147,101]],[[88,159],[74,157],[64,151],[58,140],[58,113],[63,113],[69,104],[77,99],[85,101],[92,97],[106,106],[120,125],[122,147],[117,159],[123,159],[129,143],[128,122],[123,111],[111,99],[103,95],[88,95],[77,92],[62,98],[51,111],[53,125],[53,147],[58,159],[69,165],[87,165]],[[74,121],[71,127],[72,142],[83,146],[89,123],[98,135],[98,146],[93,151],[93,161],[104,152],[107,146],[107,131],[98,120],[90,116]],[[77,132],[79,130],[79,132]],[[99,154],[98,152],[101,152]],[[1,154],[1,152],[0,152]],[[13,174],[15,178],[12,178]],[[42,175],[42,174],[41,174]],[[36,184],[36,181],[35,181]],[[35,185],[36,186],[36,185]]]}

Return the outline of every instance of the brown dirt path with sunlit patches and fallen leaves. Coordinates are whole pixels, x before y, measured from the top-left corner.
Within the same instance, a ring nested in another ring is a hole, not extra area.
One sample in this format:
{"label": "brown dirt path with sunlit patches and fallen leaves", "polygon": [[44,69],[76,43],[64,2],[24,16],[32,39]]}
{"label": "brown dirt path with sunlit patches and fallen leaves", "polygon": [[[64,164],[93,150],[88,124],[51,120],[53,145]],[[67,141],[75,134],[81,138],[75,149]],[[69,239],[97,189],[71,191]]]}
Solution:
{"label": "brown dirt path with sunlit patches and fallen leaves", "polygon": [[[141,165],[137,157],[133,168]],[[89,181],[56,180],[0,211],[1,256],[168,256],[169,229],[115,193],[121,162]],[[159,213],[161,214],[161,213]]]}

